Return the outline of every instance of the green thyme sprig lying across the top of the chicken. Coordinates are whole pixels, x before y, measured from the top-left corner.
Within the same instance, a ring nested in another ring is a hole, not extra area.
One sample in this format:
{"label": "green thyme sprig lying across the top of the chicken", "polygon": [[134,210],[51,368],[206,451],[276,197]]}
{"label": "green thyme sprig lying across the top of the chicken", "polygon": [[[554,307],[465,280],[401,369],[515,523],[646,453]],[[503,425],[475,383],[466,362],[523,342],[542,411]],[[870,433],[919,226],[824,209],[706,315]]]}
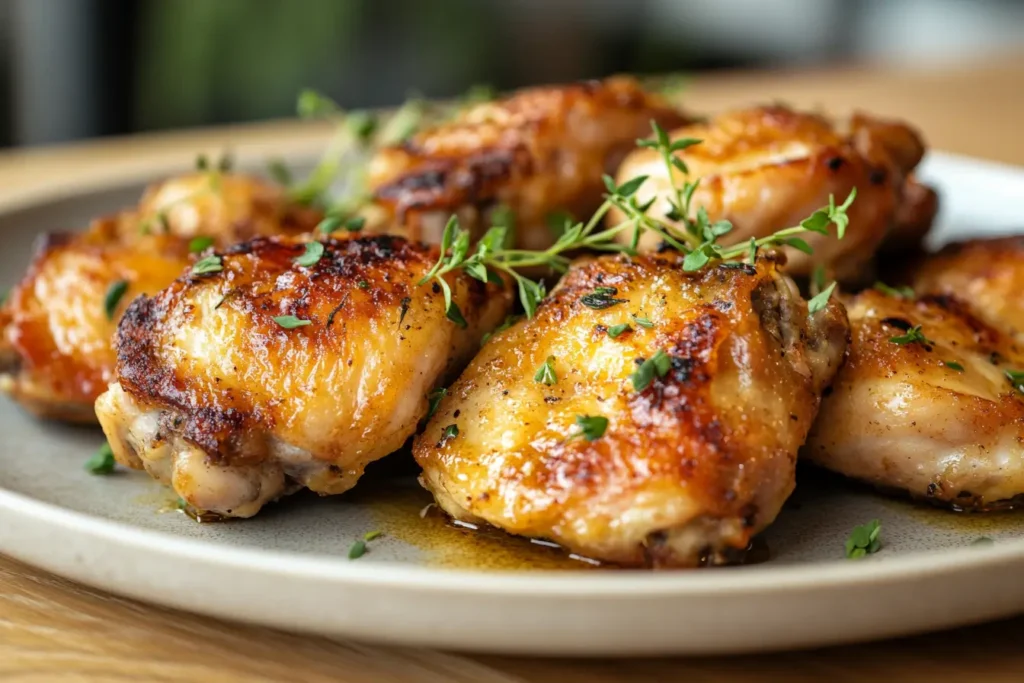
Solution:
{"label": "green thyme sprig lying across the top of the chicken", "polygon": [[[694,138],[672,140],[653,121],[651,129],[653,136],[638,140],[637,144],[657,152],[671,178],[672,193],[667,198],[669,210],[664,215],[657,215],[652,211],[658,199],[656,195],[643,202],[637,197],[638,190],[647,181],[648,176],[637,176],[616,184],[610,176],[605,175],[603,181],[607,191],[604,195],[604,202],[594,215],[586,222],[566,222],[565,229],[558,240],[545,250],[508,248],[506,229],[495,225],[483,234],[475,251],[471,252],[469,231],[460,226],[457,216],[452,216],[442,233],[437,262],[420,281],[420,285],[436,282],[443,292],[444,309],[449,318],[464,326],[465,319],[453,301],[451,287],[444,280],[446,273],[458,269],[481,282],[497,283],[501,282],[503,276],[511,278],[518,290],[523,310],[528,317],[532,317],[546,291],[542,283],[522,275],[520,270],[542,266],[555,272],[565,272],[570,262],[568,254],[584,249],[636,255],[640,238],[644,232],[657,234],[667,246],[684,254],[683,269],[687,271],[699,270],[716,261],[738,259],[754,263],[759,251],[765,247],[787,246],[809,254],[813,250],[800,236],[810,232],[829,234],[830,226],[835,226],[838,239],[842,240],[846,234],[850,222],[848,210],[857,197],[855,187],[850,190],[842,204],[837,204],[836,198],[829,196],[827,206],[818,209],[798,225],[777,230],[764,238],[751,238],[749,242],[737,245],[726,247],[718,244],[722,237],[732,231],[733,225],[727,220],[712,221],[703,207],[693,209],[693,196],[700,180],[685,179],[689,177],[689,168],[678,156],[678,153],[698,144],[700,140]],[[680,175],[684,179],[680,179]],[[602,222],[613,208],[617,209],[625,219],[601,228]],[[624,232],[630,236],[628,242],[617,239]],[[824,307],[834,289],[835,286],[829,287],[820,297],[815,297],[811,312]]]}

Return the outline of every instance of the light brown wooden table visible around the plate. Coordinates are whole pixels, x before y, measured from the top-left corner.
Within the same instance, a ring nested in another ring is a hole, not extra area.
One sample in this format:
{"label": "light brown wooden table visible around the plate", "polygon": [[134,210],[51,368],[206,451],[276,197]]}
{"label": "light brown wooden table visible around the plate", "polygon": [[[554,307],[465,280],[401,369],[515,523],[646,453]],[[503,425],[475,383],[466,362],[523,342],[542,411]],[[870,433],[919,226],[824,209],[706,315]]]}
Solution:
{"label": "light brown wooden table visible around the plate", "polygon": [[[904,117],[933,146],[1024,164],[1024,55],[930,71],[873,68],[697,79],[708,111],[775,99]],[[0,155],[0,204],[187,167],[225,144],[242,158],[315,148],[291,122]],[[1024,223],[1024,211],[1022,211]],[[443,615],[438,615],[443,618]],[[341,643],[122,600],[0,557],[0,680],[16,681],[928,681],[1024,680],[1024,617],[885,643],[743,657],[571,660],[446,654]]]}

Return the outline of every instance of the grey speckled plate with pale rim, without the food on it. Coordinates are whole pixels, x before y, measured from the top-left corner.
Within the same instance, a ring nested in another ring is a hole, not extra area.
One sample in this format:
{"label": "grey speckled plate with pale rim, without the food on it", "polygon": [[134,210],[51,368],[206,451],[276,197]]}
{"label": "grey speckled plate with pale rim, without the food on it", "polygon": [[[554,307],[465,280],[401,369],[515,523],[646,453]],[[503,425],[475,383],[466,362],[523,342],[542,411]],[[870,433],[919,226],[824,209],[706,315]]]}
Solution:
{"label": "grey speckled plate with pale rim, without the food on it", "polygon": [[[922,175],[942,193],[936,244],[1024,228],[1024,170],[936,154]],[[20,275],[38,233],[132,204],[140,187],[56,188],[0,214],[0,284]],[[84,472],[101,442],[98,429],[38,422],[0,399],[0,551],[211,615],[404,644],[610,655],[807,647],[1024,611],[1024,513],[924,509],[810,470],[756,548],[763,561],[651,573],[595,569],[421,516],[430,498],[408,454],[352,495],[300,495],[252,520],[198,524],[142,474]],[[873,518],[883,550],[845,560],[850,529]],[[384,536],[349,560],[370,530]]]}

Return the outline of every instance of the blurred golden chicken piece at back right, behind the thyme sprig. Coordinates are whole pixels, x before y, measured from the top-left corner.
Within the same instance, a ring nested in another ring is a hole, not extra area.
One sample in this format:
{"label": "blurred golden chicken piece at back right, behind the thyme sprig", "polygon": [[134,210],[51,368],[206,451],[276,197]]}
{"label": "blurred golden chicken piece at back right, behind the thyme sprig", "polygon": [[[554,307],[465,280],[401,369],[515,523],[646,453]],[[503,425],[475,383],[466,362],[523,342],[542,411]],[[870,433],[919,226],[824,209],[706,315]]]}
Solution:
{"label": "blurred golden chicken piece at back right, behind the thyme sprig", "polygon": [[[773,105],[729,112],[708,123],[675,130],[671,136],[702,140],[676,154],[689,167],[690,177],[700,178],[693,210],[702,206],[712,220],[732,221],[734,229],[722,239],[723,244],[797,225],[827,205],[829,195],[842,202],[851,188],[857,188],[846,239],[805,236],[814,254],[787,248],[790,272],[806,274],[815,264],[824,263],[838,276],[850,278],[871,258],[897,217],[908,228],[914,221],[914,227],[931,222],[927,200],[919,194],[909,198],[918,210],[902,208],[907,175],[925,152],[922,139],[902,123],[862,114],[837,123]],[[685,179],[678,171],[674,174],[677,181]],[[672,186],[657,151],[640,148],[631,154],[616,180],[622,183],[641,175],[649,177],[637,194],[638,201],[658,195],[663,199],[650,211],[664,214]],[[622,220],[621,212],[611,212],[609,221]],[[629,234],[624,232],[623,239]],[[656,234],[641,238],[641,248],[657,246]]]}

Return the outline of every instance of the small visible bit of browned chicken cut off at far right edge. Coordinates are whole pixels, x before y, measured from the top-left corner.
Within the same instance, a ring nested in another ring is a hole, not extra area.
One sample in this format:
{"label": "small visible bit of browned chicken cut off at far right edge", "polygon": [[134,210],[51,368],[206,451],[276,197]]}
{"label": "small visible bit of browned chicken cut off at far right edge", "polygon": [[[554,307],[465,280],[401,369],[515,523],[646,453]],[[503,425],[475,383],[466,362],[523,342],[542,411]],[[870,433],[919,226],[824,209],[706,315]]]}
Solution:
{"label": "small visible bit of browned chicken cut off at far right edge", "polygon": [[962,298],[989,325],[1024,343],[1024,237],[946,246],[914,269],[919,294]]}

